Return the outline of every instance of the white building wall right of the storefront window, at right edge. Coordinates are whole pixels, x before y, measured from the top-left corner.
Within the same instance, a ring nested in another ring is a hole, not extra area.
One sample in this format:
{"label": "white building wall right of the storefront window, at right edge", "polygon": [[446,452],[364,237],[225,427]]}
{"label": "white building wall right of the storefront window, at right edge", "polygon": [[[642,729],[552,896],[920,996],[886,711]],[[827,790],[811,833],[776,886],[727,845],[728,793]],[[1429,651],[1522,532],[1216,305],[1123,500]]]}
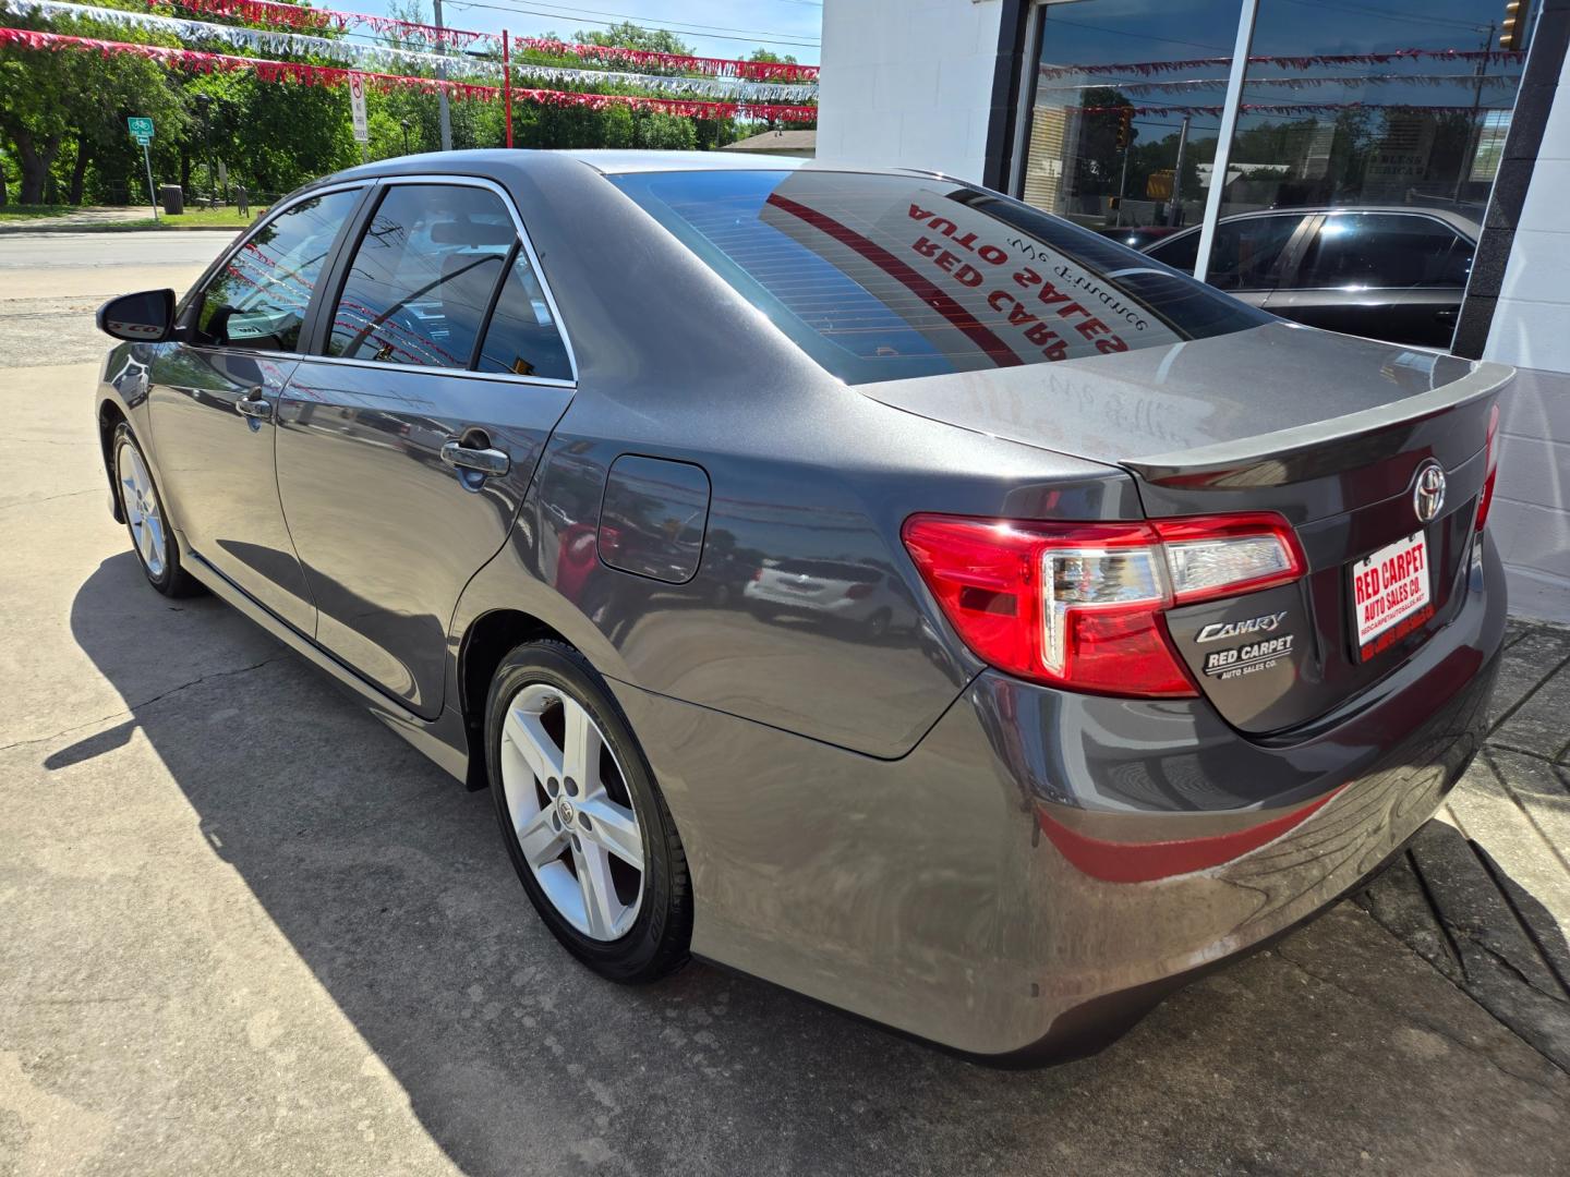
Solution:
{"label": "white building wall right of the storefront window, at right edge", "polygon": [[1517,223],[1485,359],[1520,369],[1506,405],[1493,530],[1510,610],[1570,621],[1570,58]]}

